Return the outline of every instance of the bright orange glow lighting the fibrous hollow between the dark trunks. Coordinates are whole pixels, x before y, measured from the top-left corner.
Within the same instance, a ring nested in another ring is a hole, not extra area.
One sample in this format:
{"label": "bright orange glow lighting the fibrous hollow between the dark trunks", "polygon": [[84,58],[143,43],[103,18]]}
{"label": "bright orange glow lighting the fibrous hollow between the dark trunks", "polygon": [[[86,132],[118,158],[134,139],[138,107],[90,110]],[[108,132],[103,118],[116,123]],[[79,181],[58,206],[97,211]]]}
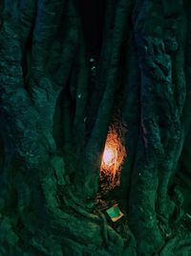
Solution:
{"label": "bright orange glow lighting the fibrous hollow between the dark trunks", "polygon": [[120,183],[120,169],[125,156],[126,150],[117,130],[110,128],[100,167],[100,177],[107,179],[108,189],[112,189]]}

